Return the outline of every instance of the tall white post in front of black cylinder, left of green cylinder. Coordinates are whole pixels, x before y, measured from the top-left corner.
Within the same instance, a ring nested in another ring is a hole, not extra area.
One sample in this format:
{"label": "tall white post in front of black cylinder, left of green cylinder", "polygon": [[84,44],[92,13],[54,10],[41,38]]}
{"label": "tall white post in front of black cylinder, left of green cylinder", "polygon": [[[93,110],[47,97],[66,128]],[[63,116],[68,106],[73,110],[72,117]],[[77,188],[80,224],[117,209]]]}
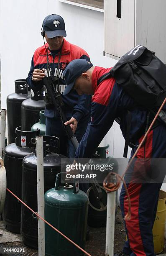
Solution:
{"label": "tall white post in front of black cylinder, left of green cylinder", "polygon": [[[36,137],[38,214],[44,218],[44,169],[43,137]],[[38,218],[38,255],[45,256],[45,229],[43,220]]]}

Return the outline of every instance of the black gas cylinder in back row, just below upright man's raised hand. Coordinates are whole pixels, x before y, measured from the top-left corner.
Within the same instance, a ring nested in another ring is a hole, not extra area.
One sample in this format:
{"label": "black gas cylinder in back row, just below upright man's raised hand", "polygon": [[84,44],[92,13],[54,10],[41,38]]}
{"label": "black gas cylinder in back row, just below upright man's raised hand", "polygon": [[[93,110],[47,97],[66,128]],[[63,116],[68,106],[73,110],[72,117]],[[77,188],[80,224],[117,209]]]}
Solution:
{"label": "black gas cylinder in back row, just below upright man's raised hand", "polygon": [[46,102],[44,100],[43,89],[39,92],[33,92],[31,90],[31,98],[24,100],[21,105],[21,128],[23,131],[31,131],[31,127],[34,123],[37,123],[40,119],[40,111],[45,108]]}

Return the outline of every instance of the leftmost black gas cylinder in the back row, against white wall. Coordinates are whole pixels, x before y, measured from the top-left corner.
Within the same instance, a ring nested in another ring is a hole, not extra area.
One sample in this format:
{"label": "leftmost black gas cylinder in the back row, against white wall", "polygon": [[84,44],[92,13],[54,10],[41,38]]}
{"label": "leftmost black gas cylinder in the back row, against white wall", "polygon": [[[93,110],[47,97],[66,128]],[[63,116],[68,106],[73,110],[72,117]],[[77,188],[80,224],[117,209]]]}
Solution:
{"label": "leftmost black gas cylinder in the back row, against white wall", "polygon": [[26,79],[15,80],[15,93],[8,95],[8,144],[15,142],[15,128],[21,126],[21,103],[31,97]]}

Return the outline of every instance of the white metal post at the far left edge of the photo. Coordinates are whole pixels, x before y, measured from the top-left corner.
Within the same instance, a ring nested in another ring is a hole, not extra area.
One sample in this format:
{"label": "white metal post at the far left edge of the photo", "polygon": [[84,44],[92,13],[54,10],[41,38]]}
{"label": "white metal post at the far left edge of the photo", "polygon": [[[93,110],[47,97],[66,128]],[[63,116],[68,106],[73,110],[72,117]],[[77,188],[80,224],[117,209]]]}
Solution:
{"label": "white metal post at the far left edge of the photo", "polygon": [[0,110],[0,156],[4,160],[5,155],[5,132],[6,132],[6,109]]}

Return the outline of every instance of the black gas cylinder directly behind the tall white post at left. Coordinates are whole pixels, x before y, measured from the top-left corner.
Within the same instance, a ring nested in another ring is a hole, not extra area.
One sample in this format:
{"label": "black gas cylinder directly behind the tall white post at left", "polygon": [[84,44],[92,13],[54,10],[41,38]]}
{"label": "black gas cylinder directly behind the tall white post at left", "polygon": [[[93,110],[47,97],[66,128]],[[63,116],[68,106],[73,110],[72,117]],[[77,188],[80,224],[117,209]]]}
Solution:
{"label": "black gas cylinder directly behind the tall white post at left", "polygon": [[[55,186],[56,174],[61,172],[61,158],[59,155],[59,138],[43,136],[44,159],[44,192]],[[35,212],[37,209],[37,157],[31,154],[23,159],[22,200]],[[32,212],[24,205],[21,207],[21,235],[26,246],[38,248],[38,220],[33,218]]]}

